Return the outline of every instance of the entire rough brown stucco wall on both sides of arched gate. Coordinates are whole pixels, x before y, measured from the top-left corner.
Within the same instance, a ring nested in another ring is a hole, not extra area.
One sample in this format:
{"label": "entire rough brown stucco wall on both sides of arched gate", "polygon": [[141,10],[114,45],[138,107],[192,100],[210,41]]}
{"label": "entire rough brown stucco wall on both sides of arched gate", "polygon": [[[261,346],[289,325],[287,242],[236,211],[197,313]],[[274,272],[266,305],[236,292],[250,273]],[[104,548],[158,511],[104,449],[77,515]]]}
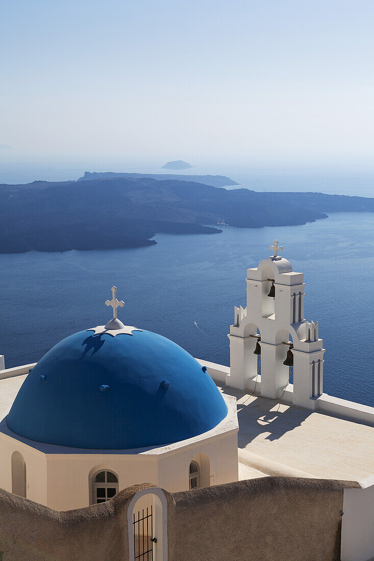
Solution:
{"label": "entire rough brown stucco wall on both sides of arched gate", "polygon": [[[0,490],[2,561],[129,559],[127,508],[143,484],[108,503],[56,512]],[[340,558],[343,490],[352,481],[263,477],[170,494],[171,561]]]}

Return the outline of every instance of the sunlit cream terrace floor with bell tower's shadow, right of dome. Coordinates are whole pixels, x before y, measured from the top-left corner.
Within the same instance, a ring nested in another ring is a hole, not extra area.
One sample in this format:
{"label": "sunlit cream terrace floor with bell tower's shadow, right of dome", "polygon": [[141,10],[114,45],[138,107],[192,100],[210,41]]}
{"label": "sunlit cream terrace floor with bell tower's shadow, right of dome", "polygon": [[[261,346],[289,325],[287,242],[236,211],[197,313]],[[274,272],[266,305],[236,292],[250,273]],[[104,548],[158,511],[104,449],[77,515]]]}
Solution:
{"label": "sunlit cream terrace floor with bell tower's shadow, right of dome", "polygon": [[238,403],[239,462],[240,452],[249,452],[247,465],[239,464],[239,479],[267,475],[267,461],[270,468],[277,467],[273,462],[282,465],[283,475],[300,470],[353,481],[374,475],[373,426],[217,386]]}

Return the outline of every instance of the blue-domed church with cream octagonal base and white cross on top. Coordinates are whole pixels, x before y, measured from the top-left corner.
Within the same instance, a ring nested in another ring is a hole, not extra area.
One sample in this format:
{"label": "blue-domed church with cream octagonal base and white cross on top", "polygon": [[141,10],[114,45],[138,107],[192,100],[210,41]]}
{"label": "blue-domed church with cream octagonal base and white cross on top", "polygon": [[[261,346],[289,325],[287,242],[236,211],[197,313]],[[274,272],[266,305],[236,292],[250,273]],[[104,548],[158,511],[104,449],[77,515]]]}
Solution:
{"label": "blue-domed church with cream octagonal base and white cross on top", "polygon": [[117,318],[56,344],[0,426],[0,488],[58,511],[153,482],[238,480],[235,398],[177,344]]}

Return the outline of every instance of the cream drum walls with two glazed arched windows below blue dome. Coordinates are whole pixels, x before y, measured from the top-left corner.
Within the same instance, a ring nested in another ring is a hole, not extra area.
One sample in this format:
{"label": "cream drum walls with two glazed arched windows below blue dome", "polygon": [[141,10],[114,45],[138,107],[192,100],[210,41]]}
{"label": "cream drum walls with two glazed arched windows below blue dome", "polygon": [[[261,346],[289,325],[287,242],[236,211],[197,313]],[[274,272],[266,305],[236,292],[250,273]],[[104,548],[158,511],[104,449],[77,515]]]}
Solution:
{"label": "cream drum walls with two glazed arched windows below blue dome", "polygon": [[186,446],[179,444],[162,454],[48,454],[47,505],[61,511],[92,504],[92,477],[99,470],[116,473],[120,490],[143,482],[167,491],[187,490],[189,465],[199,454],[209,459],[210,485],[238,481],[236,431]]}

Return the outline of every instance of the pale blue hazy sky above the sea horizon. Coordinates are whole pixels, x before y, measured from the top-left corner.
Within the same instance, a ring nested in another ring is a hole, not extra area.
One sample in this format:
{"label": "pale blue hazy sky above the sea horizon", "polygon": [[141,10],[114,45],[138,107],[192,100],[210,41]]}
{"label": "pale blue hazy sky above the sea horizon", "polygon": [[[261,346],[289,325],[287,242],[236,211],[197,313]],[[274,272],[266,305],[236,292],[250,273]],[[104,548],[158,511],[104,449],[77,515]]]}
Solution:
{"label": "pale blue hazy sky above the sea horizon", "polygon": [[374,2],[0,0],[0,144],[374,163]]}

